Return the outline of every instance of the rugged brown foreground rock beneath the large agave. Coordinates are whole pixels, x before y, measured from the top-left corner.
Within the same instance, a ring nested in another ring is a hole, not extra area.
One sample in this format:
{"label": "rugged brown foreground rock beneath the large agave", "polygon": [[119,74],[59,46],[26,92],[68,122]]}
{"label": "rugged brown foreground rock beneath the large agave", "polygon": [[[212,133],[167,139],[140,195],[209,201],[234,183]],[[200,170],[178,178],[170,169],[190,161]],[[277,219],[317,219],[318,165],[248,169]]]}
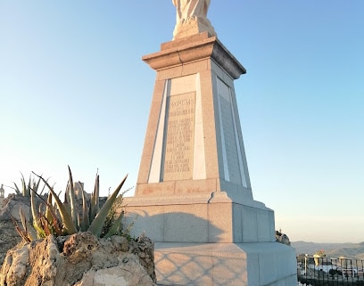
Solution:
{"label": "rugged brown foreground rock beneath the large agave", "polygon": [[0,273],[7,286],[152,286],[153,242],[92,233],[21,242],[8,251]]}

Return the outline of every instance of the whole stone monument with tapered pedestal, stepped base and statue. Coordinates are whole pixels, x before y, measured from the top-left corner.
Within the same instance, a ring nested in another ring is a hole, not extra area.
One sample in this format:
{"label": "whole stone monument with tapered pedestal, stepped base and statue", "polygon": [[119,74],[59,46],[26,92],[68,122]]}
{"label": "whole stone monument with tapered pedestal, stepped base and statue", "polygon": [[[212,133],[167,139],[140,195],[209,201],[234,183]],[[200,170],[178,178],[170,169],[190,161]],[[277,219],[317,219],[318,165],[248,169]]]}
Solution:
{"label": "whole stone monument with tapered pedestal, stepped base and statue", "polygon": [[155,242],[160,285],[295,285],[294,249],[252,197],[234,87],[246,71],[207,20],[210,1],[172,2],[174,39],[143,57],[157,75],[124,223]]}

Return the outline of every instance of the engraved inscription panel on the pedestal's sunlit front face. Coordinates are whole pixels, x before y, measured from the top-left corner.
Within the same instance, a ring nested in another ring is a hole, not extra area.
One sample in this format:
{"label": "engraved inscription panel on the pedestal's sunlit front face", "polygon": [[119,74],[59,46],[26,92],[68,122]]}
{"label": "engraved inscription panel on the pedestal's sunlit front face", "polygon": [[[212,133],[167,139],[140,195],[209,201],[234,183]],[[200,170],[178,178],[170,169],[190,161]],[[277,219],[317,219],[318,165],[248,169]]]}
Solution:
{"label": "engraved inscription panel on the pedestal's sunlit front face", "polygon": [[163,181],[192,179],[195,93],[170,96]]}

